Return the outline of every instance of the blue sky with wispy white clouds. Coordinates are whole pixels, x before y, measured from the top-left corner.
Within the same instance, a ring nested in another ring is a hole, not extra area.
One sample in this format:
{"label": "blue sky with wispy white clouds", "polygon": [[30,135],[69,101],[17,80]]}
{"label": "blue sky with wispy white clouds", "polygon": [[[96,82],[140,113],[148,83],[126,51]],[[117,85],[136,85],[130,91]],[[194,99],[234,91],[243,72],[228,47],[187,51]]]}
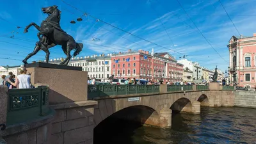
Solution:
{"label": "blue sky with wispy white clouds", "polygon": [[[29,52],[33,51],[35,42],[38,40],[36,37],[38,31],[31,28],[28,33],[24,34],[24,29],[17,29],[17,26],[24,28],[30,22],[39,25],[47,17],[41,12],[41,8],[54,4],[58,5],[61,10],[61,28],[84,44],[84,49],[79,56],[102,54],[102,52],[106,54],[128,49],[151,51],[154,48],[155,52],[170,52],[177,60],[182,54],[186,54],[188,60],[198,61],[204,67],[214,68],[218,65],[221,70],[225,70],[228,67],[226,62],[228,61],[228,40],[232,35],[239,35],[218,0],[179,0],[179,2],[225,61],[198,33],[193,22],[176,0],[65,1],[83,12],[90,13],[100,20],[167,49],[150,44],[103,22],[96,22],[91,17],[82,17],[83,21],[70,24],[70,20],[76,20],[83,13],[61,0],[13,0],[12,3],[2,1],[0,5],[0,58],[16,60],[0,59],[0,65],[22,64],[19,60],[23,60]],[[253,32],[256,32],[255,0],[246,0],[246,2],[221,0],[221,3],[239,33],[252,36]],[[12,35],[14,38],[10,38]],[[50,52],[51,58],[65,57],[60,46],[51,48]],[[39,52],[30,61],[44,60],[44,57],[44,52]]]}

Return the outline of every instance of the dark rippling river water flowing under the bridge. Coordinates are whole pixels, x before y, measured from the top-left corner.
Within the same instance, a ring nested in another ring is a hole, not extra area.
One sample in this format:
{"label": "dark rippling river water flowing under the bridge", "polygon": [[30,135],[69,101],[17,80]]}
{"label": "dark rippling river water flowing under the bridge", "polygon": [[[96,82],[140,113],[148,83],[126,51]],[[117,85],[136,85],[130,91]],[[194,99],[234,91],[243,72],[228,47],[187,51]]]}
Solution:
{"label": "dark rippling river water flowing under the bridge", "polygon": [[256,143],[256,109],[251,108],[201,108],[200,115],[175,114],[170,129],[130,122],[108,126],[100,134],[102,139],[94,140],[96,144]]}

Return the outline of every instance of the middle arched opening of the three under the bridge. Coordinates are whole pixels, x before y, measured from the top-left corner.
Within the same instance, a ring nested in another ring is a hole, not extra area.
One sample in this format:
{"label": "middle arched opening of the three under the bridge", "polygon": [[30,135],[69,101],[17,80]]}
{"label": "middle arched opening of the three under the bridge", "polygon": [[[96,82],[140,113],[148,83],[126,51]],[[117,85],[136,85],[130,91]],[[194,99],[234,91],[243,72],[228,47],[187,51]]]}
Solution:
{"label": "middle arched opening of the three under the bridge", "polygon": [[170,109],[172,109],[172,113],[190,112],[192,109],[192,104],[189,99],[182,97],[176,100]]}

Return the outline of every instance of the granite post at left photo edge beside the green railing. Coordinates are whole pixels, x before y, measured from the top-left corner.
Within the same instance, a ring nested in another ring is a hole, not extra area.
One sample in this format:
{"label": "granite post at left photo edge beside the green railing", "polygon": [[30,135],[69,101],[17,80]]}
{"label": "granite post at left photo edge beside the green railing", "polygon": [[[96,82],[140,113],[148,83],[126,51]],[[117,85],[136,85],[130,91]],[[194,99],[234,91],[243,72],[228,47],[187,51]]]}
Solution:
{"label": "granite post at left photo edge beside the green railing", "polygon": [[0,87],[0,124],[6,124],[7,92],[8,88],[6,86]]}

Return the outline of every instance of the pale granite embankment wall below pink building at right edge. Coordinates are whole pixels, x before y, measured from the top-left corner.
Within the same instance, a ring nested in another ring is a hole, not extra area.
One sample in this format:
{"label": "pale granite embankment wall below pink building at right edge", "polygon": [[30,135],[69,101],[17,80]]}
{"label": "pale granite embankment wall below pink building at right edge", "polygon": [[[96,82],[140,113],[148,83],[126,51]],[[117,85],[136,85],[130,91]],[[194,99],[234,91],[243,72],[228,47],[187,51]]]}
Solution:
{"label": "pale granite embankment wall below pink building at right edge", "polygon": [[253,91],[236,91],[235,106],[256,108],[256,92]]}

